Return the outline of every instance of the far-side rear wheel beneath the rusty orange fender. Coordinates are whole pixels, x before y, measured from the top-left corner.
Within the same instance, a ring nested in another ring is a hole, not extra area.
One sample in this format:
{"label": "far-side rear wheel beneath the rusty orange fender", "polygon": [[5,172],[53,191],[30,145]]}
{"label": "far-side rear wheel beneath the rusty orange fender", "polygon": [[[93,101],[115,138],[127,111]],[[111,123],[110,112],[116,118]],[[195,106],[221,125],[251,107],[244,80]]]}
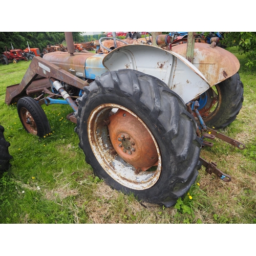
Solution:
{"label": "far-side rear wheel beneath the rusty orange fender", "polygon": [[[239,114],[244,100],[244,85],[240,80],[239,73],[236,73],[217,84],[214,88],[210,88],[200,96],[201,100],[203,97],[207,100],[203,104],[206,111],[200,107],[199,113],[208,127],[221,129],[233,122]],[[214,110],[208,113],[213,100],[217,100]]]}

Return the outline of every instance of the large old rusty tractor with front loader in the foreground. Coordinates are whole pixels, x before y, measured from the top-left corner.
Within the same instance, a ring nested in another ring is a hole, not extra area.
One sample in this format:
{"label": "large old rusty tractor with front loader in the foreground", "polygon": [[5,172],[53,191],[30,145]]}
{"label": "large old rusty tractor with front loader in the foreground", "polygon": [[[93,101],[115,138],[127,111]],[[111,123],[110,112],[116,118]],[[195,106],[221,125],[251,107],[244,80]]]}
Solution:
{"label": "large old rusty tractor with front loader in the foreground", "polygon": [[34,57],[22,81],[6,89],[5,103],[17,103],[28,133],[51,132],[41,105],[69,104],[67,119],[76,123],[94,174],[116,190],[165,207],[187,193],[202,165],[231,181],[200,152],[214,138],[245,148],[217,131],[242,107],[240,63],[233,54],[195,42],[193,32],[187,44],[172,50],[127,42],[112,50],[99,40],[106,54],[76,53],[72,33],[65,36],[69,52]]}

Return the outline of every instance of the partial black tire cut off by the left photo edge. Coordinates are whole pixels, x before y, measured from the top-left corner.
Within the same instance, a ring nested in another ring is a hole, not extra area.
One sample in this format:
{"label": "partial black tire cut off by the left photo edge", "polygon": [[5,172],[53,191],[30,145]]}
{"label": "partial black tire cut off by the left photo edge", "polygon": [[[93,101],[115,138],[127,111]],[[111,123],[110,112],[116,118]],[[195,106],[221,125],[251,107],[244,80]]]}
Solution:
{"label": "partial black tire cut off by the left photo edge", "polygon": [[5,140],[4,131],[4,127],[0,125],[0,172],[4,172],[11,167],[10,159],[12,159],[8,150],[10,143]]}

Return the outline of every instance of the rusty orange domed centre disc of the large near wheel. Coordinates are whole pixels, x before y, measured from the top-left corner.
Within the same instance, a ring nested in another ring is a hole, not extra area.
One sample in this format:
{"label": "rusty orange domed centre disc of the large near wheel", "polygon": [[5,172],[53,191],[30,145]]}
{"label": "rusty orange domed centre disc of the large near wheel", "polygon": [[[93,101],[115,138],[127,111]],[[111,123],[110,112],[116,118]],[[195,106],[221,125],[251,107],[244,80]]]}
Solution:
{"label": "rusty orange domed centre disc of the large near wheel", "polygon": [[141,170],[157,165],[155,143],[138,118],[119,109],[109,119],[110,140],[122,159]]}

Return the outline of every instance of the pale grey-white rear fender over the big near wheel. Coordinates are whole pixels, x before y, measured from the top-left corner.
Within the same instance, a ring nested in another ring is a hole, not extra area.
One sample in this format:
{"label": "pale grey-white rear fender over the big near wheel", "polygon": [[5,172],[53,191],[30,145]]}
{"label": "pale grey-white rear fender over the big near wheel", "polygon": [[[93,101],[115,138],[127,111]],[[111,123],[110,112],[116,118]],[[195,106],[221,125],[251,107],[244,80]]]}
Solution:
{"label": "pale grey-white rear fender over the big near wheel", "polygon": [[125,45],[103,59],[109,71],[133,69],[164,81],[184,102],[210,88],[204,75],[188,60],[173,51],[150,45]]}

